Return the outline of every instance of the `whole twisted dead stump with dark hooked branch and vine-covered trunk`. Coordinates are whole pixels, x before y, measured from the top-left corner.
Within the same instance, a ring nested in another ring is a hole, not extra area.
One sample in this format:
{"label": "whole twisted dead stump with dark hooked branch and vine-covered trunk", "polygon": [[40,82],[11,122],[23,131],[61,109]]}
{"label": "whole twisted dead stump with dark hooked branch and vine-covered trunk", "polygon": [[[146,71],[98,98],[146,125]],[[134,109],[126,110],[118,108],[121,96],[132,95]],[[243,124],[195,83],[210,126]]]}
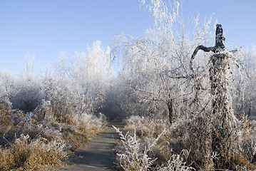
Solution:
{"label": "whole twisted dead stump with dark hooked branch and vine-covered trunk", "polygon": [[199,50],[213,52],[210,57],[210,93],[212,113],[212,151],[217,152],[219,159],[213,160],[215,169],[228,167],[227,157],[230,156],[232,135],[235,134],[235,116],[232,113],[230,95],[228,92],[227,72],[230,69],[229,58],[224,45],[222,26],[217,24],[215,32],[215,46],[198,46],[190,58],[190,70],[193,70],[193,59]]}

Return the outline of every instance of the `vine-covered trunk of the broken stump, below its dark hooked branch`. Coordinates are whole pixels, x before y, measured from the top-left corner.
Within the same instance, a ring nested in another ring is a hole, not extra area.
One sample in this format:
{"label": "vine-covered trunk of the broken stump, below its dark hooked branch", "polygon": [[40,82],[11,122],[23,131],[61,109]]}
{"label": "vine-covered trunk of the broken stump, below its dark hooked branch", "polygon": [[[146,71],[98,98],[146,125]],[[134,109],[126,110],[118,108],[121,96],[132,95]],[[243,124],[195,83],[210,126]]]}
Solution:
{"label": "vine-covered trunk of the broken stump, below its dark hooked branch", "polygon": [[214,54],[211,59],[210,86],[212,95],[212,114],[214,118],[212,133],[212,150],[220,155],[215,161],[215,168],[228,167],[227,156],[230,149],[230,136],[233,128],[233,114],[228,95],[227,68],[228,59],[225,54]]}

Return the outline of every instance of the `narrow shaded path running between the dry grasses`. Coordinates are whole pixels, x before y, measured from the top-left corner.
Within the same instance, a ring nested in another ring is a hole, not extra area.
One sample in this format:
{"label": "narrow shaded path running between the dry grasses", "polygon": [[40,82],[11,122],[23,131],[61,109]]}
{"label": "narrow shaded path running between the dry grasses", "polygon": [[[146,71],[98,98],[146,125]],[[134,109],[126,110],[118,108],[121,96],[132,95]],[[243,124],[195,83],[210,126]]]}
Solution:
{"label": "narrow shaded path running between the dry grasses", "polygon": [[116,155],[113,152],[113,147],[116,146],[116,140],[118,140],[119,135],[112,125],[116,128],[123,128],[122,123],[109,120],[106,130],[103,130],[102,133],[92,138],[90,142],[86,143],[85,147],[76,150],[75,156],[69,158],[67,167],[58,168],[57,170],[116,170],[114,164]]}

